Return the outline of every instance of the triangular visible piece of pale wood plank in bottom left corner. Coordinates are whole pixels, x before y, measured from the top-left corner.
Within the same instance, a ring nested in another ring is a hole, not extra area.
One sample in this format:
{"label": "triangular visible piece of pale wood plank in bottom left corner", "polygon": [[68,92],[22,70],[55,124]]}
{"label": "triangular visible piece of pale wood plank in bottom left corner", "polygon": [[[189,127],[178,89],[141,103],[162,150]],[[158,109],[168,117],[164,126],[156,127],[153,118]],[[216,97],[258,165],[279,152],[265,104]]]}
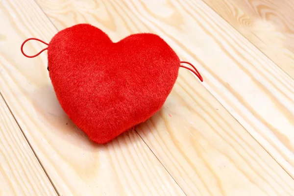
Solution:
{"label": "triangular visible piece of pale wood plank in bottom left corner", "polygon": [[0,163],[1,196],[57,195],[1,96]]}

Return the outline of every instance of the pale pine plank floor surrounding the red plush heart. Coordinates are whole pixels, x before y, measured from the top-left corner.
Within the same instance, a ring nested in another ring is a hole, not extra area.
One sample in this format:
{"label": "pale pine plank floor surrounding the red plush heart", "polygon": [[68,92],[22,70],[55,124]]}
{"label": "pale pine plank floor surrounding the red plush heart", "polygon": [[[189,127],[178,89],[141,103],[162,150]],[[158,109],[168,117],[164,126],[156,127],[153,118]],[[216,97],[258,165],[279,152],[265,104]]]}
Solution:
{"label": "pale pine plank floor surrounding the red plush heart", "polygon": [[[159,112],[95,145],[47,52],[20,52],[79,23],[156,33],[204,82],[180,69]],[[294,196],[293,0],[0,0],[0,95],[0,196]]]}

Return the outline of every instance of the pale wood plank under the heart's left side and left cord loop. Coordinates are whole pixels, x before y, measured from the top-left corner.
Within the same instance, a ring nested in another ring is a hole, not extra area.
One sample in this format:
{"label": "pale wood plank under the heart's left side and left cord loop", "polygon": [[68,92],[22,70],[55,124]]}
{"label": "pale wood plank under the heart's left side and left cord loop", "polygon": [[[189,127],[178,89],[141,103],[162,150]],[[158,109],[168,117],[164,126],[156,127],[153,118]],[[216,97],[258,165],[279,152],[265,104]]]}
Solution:
{"label": "pale wood plank under the heart's left side and left cord loop", "polygon": [[[0,24],[1,93],[60,195],[185,195],[136,132],[96,145],[62,111],[46,52],[34,59],[20,52],[26,38],[49,41],[57,32],[34,0],[2,0]],[[42,48],[31,42],[25,51]]]}

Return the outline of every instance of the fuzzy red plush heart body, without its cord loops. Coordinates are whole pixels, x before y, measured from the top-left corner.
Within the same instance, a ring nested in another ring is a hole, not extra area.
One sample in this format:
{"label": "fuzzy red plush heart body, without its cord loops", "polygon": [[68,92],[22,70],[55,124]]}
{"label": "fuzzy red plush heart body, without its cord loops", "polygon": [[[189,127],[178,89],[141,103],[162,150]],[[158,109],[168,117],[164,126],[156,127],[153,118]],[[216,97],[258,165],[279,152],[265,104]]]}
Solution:
{"label": "fuzzy red plush heart body, without its cord loops", "polygon": [[63,110],[98,144],[154,115],[180,66],[176,53],[155,34],[133,34],[114,43],[88,24],[59,31],[49,43],[48,61]]}

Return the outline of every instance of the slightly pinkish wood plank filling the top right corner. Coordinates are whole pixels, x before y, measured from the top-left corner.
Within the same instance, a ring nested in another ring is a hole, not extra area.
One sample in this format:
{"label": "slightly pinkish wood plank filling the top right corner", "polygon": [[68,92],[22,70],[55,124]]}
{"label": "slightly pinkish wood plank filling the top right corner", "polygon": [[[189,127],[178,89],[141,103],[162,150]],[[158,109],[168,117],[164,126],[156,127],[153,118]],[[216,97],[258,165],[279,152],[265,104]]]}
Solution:
{"label": "slightly pinkish wood plank filling the top right corner", "polygon": [[203,0],[294,78],[292,0]]}

